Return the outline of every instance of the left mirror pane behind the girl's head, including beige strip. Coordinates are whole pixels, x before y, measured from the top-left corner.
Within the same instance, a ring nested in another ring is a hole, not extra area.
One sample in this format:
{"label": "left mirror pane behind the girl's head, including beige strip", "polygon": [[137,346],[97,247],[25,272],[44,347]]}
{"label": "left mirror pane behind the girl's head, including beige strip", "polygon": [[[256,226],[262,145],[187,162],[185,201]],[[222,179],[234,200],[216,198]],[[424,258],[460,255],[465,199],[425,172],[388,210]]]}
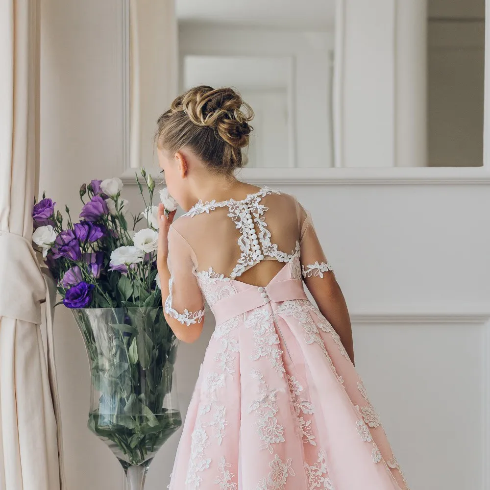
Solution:
{"label": "left mirror pane behind the girl's head, including beige strip", "polygon": [[252,106],[247,167],[333,166],[335,0],[306,3],[131,0],[129,167],[156,166],[157,117],[203,84]]}

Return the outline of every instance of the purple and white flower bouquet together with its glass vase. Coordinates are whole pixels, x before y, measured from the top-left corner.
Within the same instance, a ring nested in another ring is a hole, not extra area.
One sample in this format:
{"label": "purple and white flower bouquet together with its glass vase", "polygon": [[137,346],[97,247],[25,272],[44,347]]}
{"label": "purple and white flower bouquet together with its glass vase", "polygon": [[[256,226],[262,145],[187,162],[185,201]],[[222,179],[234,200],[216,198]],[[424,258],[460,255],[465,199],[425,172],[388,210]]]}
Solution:
{"label": "purple and white flower bouquet together with its glass vase", "polygon": [[[80,188],[83,207],[73,223],[43,195],[34,203],[33,242],[66,307],[72,309],[91,369],[88,427],[141,490],[152,458],[182,424],[174,365],[178,341],[163,315],[156,268],[158,207],[155,183],[143,169],[138,183],[145,210],[128,227],[128,201],[118,178]],[[166,188],[167,212],[176,203]],[[135,231],[138,223],[146,226]],[[57,304],[60,304],[57,303]]]}

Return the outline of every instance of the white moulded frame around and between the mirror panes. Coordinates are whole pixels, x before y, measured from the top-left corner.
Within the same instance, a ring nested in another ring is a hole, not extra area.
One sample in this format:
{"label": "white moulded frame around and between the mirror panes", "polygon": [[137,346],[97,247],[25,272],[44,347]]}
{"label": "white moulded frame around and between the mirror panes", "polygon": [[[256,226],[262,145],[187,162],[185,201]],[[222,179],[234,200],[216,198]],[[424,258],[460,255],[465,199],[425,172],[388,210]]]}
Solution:
{"label": "white moulded frame around and between the mirror panes", "polygon": [[[485,79],[483,165],[481,167],[343,167],[343,85],[344,35],[347,0],[336,0],[335,64],[333,81],[333,137],[334,167],[286,167],[242,169],[238,177],[254,184],[270,185],[352,185],[352,184],[490,184],[490,2],[485,5]],[[396,15],[397,0],[392,1]],[[123,169],[125,184],[136,184],[135,172],[130,166],[130,86],[129,86],[129,2],[122,2],[122,66],[123,66]],[[280,172],[278,172],[280,170]],[[157,168],[147,168],[153,177],[161,180]],[[158,174],[158,176],[157,176]]]}

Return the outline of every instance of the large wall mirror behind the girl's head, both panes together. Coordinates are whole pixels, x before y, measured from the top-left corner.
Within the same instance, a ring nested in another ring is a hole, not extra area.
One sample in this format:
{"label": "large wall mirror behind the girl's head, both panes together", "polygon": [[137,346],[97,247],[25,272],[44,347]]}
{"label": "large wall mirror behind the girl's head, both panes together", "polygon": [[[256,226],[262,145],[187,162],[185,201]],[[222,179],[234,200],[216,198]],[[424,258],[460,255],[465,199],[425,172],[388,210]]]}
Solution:
{"label": "large wall mirror behind the girl's head, both panes together", "polygon": [[156,119],[203,84],[252,106],[259,180],[483,165],[484,0],[125,1],[128,176],[156,169]]}

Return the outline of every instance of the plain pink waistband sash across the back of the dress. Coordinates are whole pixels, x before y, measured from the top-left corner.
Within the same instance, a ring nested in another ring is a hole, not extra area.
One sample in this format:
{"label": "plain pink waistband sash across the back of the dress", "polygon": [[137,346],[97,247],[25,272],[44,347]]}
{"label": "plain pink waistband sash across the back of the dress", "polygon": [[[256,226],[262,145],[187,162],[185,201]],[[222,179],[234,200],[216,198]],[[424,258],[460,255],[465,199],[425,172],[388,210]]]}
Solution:
{"label": "plain pink waistband sash across the back of the dress", "polygon": [[213,304],[212,309],[216,324],[219,324],[259,306],[292,299],[308,299],[303,281],[299,279],[275,281],[264,288],[252,286],[245,291],[220,299]]}

